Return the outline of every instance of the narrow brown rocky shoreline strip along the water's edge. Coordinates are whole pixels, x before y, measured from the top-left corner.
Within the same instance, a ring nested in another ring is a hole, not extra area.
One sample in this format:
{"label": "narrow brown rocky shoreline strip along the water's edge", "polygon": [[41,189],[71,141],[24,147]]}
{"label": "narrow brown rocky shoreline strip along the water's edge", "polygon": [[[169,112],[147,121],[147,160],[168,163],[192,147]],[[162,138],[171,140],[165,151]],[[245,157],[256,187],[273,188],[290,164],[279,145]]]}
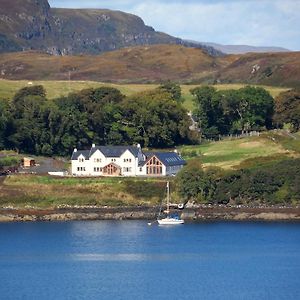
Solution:
{"label": "narrow brown rocky shoreline strip along the water's edge", "polygon": [[[157,207],[0,208],[0,223],[85,220],[154,220]],[[300,221],[300,207],[194,206],[174,209],[186,221]]]}

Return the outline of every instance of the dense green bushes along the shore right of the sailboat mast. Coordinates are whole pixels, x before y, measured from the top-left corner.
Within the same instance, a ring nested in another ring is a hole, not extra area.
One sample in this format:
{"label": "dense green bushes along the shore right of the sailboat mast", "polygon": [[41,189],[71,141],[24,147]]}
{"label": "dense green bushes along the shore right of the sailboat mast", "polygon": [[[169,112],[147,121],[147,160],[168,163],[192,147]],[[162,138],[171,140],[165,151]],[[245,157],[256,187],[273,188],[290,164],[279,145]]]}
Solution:
{"label": "dense green bushes along the shore right of the sailboat mast", "polygon": [[204,170],[192,161],[176,176],[176,186],[180,197],[196,203],[295,205],[300,203],[300,159],[235,171]]}

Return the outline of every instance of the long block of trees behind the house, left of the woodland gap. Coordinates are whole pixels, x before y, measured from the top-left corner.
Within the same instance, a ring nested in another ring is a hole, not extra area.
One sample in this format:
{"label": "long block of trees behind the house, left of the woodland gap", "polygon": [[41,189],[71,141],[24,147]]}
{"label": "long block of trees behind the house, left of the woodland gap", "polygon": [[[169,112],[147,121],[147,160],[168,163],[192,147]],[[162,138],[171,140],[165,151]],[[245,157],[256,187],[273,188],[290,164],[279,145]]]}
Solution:
{"label": "long block of trees behind the house, left of the woodland gap", "polygon": [[132,97],[100,87],[51,101],[31,86],[0,102],[0,148],[37,155],[67,156],[92,143],[173,147],[193,140],[189,126],[181,90],[167,84]]}

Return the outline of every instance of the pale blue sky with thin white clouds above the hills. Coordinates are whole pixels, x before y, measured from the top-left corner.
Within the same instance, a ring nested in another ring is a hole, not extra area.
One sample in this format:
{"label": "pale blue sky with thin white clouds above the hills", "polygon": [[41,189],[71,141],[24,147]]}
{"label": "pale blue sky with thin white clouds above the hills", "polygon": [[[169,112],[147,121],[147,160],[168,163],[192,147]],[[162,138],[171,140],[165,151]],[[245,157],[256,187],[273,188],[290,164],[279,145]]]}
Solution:
{"label": "pale blue sky with thin white clouds above the hills", "polygon": [[220,44],[300,50],[300,0],[49,0],[51,7],[133,13],[170,35]]}

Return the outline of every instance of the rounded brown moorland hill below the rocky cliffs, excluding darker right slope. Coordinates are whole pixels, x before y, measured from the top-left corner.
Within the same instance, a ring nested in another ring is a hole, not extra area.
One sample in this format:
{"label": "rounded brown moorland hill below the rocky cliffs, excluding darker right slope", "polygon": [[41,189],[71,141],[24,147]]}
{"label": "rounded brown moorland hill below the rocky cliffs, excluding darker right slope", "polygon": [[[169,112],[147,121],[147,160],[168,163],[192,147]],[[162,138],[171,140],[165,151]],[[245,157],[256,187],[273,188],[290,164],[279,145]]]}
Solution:
{"label": "rounded brown moorland hill below the rocky cliffs, excluding darker right slope", "polygon": [[228,65],[203,50],[178,45],[126,48],[97,56],[52,56],[40,52],[2,54],[3,79],[158,82],[201,78]]}

